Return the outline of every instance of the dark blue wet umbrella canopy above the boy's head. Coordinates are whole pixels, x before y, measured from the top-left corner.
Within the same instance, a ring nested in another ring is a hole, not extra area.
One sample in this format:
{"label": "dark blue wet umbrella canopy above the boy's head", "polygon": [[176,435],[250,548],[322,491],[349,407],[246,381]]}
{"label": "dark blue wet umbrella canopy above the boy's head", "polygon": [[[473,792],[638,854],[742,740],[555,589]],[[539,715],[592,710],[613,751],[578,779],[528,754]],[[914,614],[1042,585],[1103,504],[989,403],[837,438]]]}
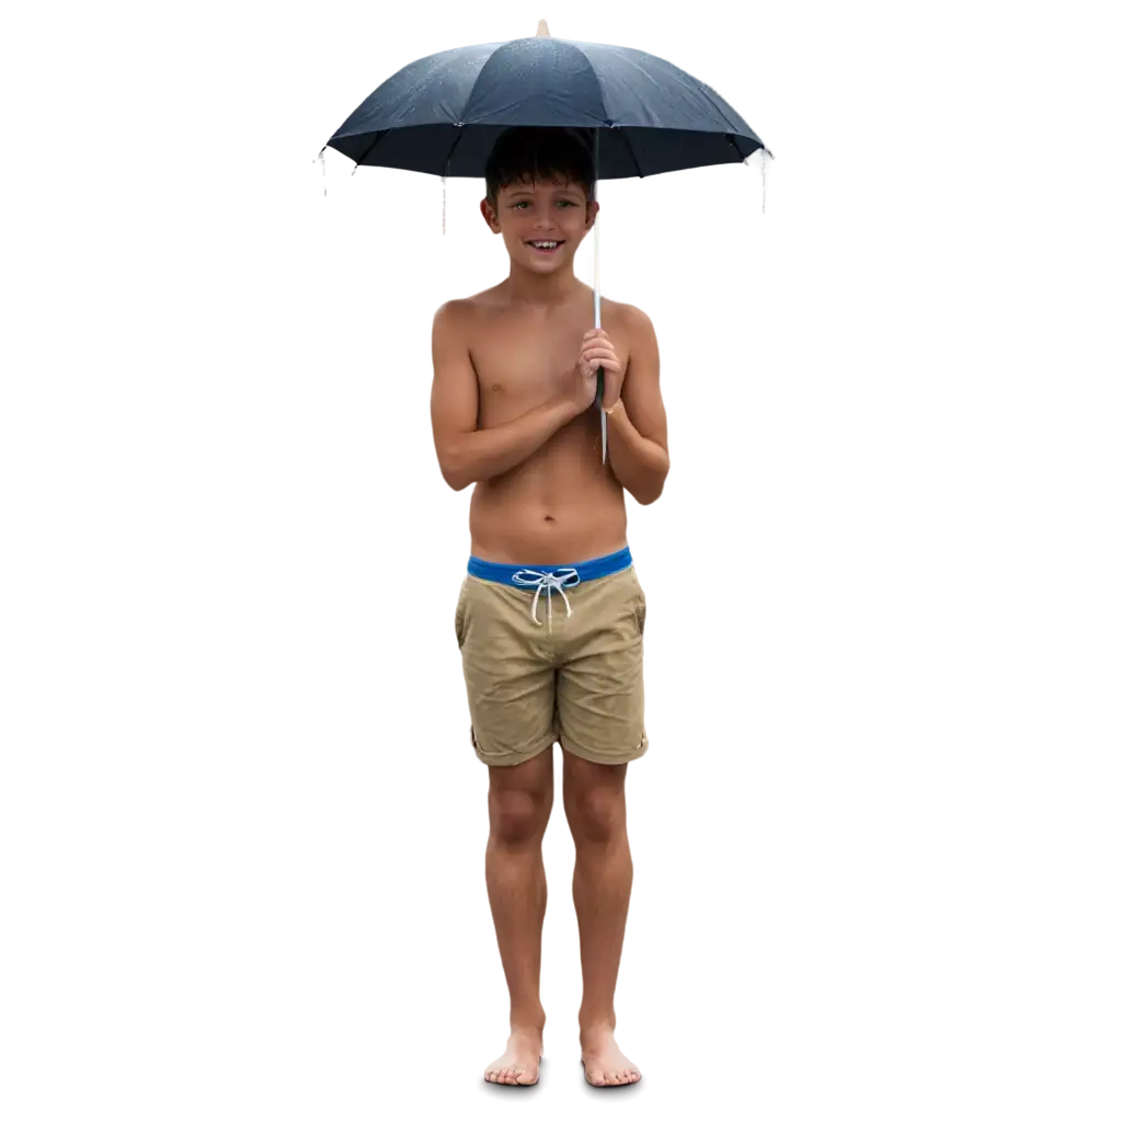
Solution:
{"label": "dark blue wet umbrella canopy above the boy's head", "polygon": [[478,182],[515,126],[589,130],[597,177],[609,183],[696,177],[765,147],[754,121],[663,58],[536,36],[415,55],[320,147],[375,173]]}

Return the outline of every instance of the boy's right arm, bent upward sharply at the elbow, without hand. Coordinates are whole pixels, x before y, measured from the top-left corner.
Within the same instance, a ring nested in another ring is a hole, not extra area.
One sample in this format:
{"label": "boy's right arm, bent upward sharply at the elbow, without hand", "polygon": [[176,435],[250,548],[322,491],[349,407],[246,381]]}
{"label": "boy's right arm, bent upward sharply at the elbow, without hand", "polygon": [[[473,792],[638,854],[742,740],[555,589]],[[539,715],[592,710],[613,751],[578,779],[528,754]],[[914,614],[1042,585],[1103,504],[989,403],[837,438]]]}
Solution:
{"label": "boy's right arm, bent upward sharply at the elbow, without hand", "polygon": [[619,486],[646,506],[670,475],[666,412],[657,381],[657,335],[653,320],[629,310],[631,356],[619,402],[608,414],[608,463]]}

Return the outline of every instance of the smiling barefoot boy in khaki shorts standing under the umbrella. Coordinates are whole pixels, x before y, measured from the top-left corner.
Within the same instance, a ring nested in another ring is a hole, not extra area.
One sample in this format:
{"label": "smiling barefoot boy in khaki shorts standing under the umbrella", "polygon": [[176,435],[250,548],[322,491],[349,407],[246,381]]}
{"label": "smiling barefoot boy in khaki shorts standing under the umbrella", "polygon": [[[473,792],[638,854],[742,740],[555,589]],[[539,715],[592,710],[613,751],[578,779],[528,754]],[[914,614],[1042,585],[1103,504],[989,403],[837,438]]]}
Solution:
{"label": "smiling barefoot boy in khaki shorts standing under the umbrella", "polygon": [[457,643],[485,774],[484,885],[509,1020],[484,1065],[487,1087],[539,1080],[535,959],[554,745],[574,853],[585,1076],[600,1087],[641,1083],[611,1027],[628,863],[622,795],[644,739],[645,609],[626,507],[657,497],[670,461],[651,320],[605,301],[604,330],[590,330],[592,174],[586,147],[560,129],[504,134],[482,213],[507,277],[447,303],[432,325],[432,456],[449,494],[466,499]]}

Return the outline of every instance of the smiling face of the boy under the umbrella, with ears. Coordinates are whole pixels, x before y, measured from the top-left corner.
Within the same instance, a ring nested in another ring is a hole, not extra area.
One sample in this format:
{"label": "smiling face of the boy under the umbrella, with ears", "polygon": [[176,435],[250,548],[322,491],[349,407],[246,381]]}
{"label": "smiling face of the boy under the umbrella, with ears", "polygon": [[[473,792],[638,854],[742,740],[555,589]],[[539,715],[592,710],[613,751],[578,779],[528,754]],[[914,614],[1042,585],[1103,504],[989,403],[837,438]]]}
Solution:
{"label": "smiling face of the boy under the umbrella, with ears", "polygon": [[550,274],[587,251],[598,208],[579,184],[512,183],[495,202],[484,202],[484,226],[513,264]]}

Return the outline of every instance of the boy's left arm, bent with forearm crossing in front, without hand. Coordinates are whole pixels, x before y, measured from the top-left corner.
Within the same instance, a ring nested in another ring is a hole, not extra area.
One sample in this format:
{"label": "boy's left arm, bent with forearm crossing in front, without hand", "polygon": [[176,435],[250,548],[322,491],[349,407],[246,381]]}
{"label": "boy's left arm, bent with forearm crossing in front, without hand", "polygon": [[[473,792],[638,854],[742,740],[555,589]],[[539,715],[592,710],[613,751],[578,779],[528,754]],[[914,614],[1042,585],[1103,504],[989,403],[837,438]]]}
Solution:
{"label": "boy's left arm, bent with forearm crossing in front, without hand", "polygon": [[433,319],[430,334],[430,448],[453,498],[516,468],[577,415],[570,401],[558,397],[507,424],[478,430],[479,383],[468,351],[470,314],[470,305],[448,303]]}

